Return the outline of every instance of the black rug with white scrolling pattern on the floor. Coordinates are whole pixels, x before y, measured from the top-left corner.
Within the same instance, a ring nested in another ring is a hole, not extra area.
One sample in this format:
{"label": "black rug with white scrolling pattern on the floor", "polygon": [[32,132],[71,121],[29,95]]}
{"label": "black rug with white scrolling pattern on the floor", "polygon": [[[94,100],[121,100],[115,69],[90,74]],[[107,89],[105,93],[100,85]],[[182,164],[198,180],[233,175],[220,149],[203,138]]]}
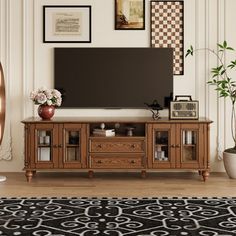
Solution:
{"label": "black rug with white scrolling pattern on the floor", "polygon": [[0,236],[232,236],[236,198],[0,198]]}

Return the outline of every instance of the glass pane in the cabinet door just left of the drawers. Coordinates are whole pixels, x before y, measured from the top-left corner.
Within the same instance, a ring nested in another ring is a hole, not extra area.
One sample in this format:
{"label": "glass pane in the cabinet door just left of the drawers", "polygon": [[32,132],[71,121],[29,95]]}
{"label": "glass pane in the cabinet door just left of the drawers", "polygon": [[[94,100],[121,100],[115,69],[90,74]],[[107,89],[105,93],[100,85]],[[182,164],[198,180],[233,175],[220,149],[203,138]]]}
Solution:
{"label": "glass pane in the cabinet door just left of the drawers", "polygon": [[66,131],[66,162],[80,161],[80,131]]}

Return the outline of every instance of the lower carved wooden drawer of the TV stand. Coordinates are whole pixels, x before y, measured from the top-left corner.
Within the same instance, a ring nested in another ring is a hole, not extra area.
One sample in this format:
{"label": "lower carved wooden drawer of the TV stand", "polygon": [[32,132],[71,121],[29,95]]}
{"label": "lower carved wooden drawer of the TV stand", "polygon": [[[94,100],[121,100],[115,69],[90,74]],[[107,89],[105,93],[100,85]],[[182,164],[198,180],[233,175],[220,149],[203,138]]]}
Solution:
{"label": "lower carved wooden drawer of the TV stand", "polygon": [[133,169],[144,168],[143,155],[91,155],[90,156],[91,168],[120,168],[120,169]]}

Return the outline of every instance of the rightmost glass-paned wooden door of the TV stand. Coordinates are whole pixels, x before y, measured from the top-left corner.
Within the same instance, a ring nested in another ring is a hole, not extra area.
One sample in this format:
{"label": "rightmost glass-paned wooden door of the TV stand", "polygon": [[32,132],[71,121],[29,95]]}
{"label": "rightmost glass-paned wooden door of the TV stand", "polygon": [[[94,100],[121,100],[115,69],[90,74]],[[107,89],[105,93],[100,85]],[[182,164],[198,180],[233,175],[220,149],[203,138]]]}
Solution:
{"label": "rightmost glass-paned wooden door of the TV stand", "polygon": [[176,125],[176,168],[204,168],[204,137],[202,124]]}

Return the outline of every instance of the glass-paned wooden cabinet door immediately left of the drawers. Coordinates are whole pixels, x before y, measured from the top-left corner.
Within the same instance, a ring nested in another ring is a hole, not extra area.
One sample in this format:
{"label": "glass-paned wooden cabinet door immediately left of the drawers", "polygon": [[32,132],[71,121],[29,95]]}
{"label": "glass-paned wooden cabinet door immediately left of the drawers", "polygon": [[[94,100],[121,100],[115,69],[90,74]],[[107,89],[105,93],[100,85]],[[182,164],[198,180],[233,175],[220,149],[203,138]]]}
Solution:
{"label": "glass-paned wooden cabinet door immediately left of the drawers", "polygon": [[86,168],[87,135],[86,124],[60,124],[59,167]]}

